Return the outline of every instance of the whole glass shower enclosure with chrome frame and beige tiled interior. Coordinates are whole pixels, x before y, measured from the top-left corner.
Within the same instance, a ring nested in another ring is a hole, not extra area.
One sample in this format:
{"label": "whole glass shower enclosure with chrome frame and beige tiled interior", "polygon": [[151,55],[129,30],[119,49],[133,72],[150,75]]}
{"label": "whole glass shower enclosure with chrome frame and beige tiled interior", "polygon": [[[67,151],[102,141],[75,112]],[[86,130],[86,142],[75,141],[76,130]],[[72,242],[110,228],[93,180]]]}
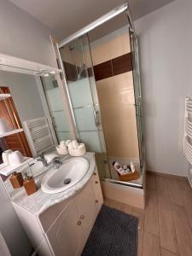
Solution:
{"label": "whole glass shower enclosure with chrome frame and beige tiled interior", "polygon": [[[127,4],[61,41],[57,48],[76,138],[96,152],[102,180],[143,188],[144,148],[137,34]],[[140,177],[119,181],[113,161]]]}

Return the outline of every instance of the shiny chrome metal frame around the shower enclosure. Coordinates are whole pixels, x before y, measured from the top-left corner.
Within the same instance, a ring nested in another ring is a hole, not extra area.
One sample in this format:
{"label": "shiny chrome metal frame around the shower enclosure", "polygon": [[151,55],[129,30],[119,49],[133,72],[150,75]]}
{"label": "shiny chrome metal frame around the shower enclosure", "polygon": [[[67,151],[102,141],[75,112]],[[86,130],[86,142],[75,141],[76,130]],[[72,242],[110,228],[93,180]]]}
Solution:
{"label": "shiny chrome metal frame around the shower enclosure", "polygon": [[[104,24],[108,20],[111,20],[115,16],[120,15],[120,14],[122,14],[124,12],[125,12],[125,14],[127,16],[129,30],[134,35],[134,39],[135,39],[135,43],[136,43],[136,48],[137,48],[136,49],[136,51],[137,51],[137,69],[138,69],[137,73],[138,73],[138,88],[139,88],[139,95],[137,96],[137,98],[141,100],[142,96],[141,96],[141,84],[140,84],[140,75],[139,75],[138,40],[137,40],[137,33],[136,33],[136,30],[135,30],[134,24],[133,24],[133,22],[131,20],[131,15],[130,15],[128,3],[124,3],[124,4],[120,5],[118,8],[115,8],[115,9],[111,10],[110,12],[108,12],[108,14],[103,15],[99,19],[91,22],[88,26],[84,26],[82,29],[80,29],[78,32],[73,33],[71,36],[69,36],[67,38],[64,38],[63,40],[61,40],[60,43],[55,44],[55,55],[57,56],[57,58],[59,60],[60,68],[63,70],[63,75],[62,75],[61,79],[63,81],[63,87],[64,87],[64,91],[66,93],[67,101],[69,102],[69,108],[70,108],[71,113],[72,113],[72,120],[73,120],[73,122],[71,123],[71,125],[73,126],[73,131],[74,131],[73,134],[76,134],[76,136],[74,136],[74,138],[78,138],[79,137],[78,136],[78,129],[77,129],[74,113],[73,113],[72,103],[70,101],[69,91],[68,91],[68,88],[67,88],[67,76],[66,76],[65,68],[63,67],[63,63],[62,63],[62,60],[61,60],[60,48],[65,46],[65,45],[67,45],[68,43],[72,42],[73,40],[78,39],[78,38],[84,36],[88,32],[90,32],[93,29],[95,29],[97,26],[101,26],[102,24]],[[142,113],[142,108],[141,108],[142,105],[140,104],[138,106],[137,102],[136,102],[136,108],[137,107],[140,107],[141,119],[142,119],[141,122],[143,123],[143,113]],[[137,133],[138,133],[138,127],[137,127]],[[141,155],[141,152],[140,152],[139,158],[140,158],[140,161],[141,161],[141,159],[143,159],[143,164],[142,164],[142,167],[143,167],[144,166],[144,155],[145,155],[144,147],[143,147],[143,140],[142,140],[142,145],[138,145],[138,147],[139,147],[139,149],[140,149],[140,147],[142,147],[142,154],[143,155]],[[130,182],[126,182],[125,183],[125,182],[120,182],[120,181],[113,180],[113,179],[110,179],[110,178],[106,178],[106,180],[108,180],[109,182],[113,182],[113,183],[116,183],[116,184],[122,184],[122,185],[125,185],[125,186],[127,185],[127,186],[133,186],[133,187],[136,187],[136,188],[143,188],[143,185],[137,184],[137,183],[130,183]]]}

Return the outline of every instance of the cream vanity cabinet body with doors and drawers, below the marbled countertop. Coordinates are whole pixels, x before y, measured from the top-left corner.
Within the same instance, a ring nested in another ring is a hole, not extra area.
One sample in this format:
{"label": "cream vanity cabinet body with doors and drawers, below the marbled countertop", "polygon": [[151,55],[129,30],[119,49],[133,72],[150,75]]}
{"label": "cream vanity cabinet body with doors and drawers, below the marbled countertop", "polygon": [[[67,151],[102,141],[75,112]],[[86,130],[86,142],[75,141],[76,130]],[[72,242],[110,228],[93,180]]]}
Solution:
{"label": "cream vanity cabinet body with doors and drawers, below the marbled countertop", "polygon": [[95,169],[79,194],[49,207],[40,216],[15,203],[14,206],[39,256],[80,256],[102,203]]}

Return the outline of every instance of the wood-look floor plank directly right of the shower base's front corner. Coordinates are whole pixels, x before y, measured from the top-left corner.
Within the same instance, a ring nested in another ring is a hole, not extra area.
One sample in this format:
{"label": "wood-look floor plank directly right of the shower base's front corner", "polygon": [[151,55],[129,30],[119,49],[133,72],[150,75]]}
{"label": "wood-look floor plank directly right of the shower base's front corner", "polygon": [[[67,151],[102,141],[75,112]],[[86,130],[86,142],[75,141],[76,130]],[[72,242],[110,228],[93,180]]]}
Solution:
{"label": "wood-look floor plank directly right of the shower base's front corner", "polygon": [[144,230],[159,236],[159,220],[157,208],[157,193],[156,190],[150,189],[147,192],[147,203],[145,210]]}

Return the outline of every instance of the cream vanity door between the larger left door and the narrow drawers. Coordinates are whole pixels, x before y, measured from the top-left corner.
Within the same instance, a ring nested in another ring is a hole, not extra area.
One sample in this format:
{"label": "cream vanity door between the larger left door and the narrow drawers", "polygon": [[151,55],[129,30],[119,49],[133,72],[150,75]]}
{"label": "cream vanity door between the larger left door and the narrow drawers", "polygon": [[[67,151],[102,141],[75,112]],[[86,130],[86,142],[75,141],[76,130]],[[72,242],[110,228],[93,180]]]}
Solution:
{"label": "cream vanity door between the larger left door and the narrow drawers", "polygon": [[82,220],[85,240],[90,235],[90,230],[96,221],[96,201],[95,195],[89,182],[84,189],[75,197],[75,203],[78,208],[79,218]]}

